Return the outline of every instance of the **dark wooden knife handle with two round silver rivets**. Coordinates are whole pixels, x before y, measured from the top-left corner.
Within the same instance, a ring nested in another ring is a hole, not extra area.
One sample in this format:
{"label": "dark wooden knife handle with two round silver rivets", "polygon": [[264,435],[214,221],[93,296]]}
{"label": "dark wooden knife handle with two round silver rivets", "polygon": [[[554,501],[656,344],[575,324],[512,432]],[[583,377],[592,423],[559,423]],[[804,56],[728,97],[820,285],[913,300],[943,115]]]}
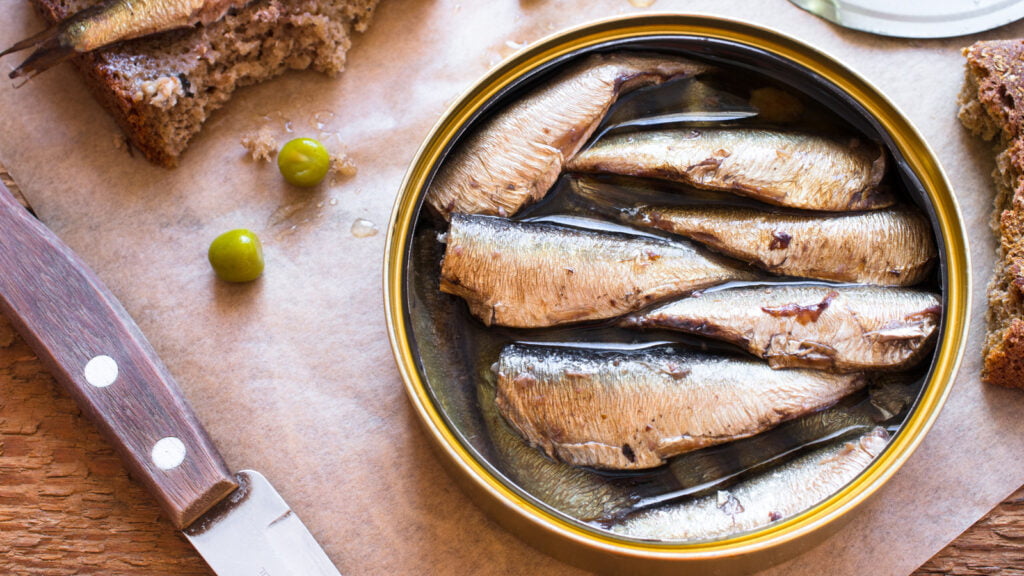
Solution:
{"label": "dark wooden knife handle with two round silver rivets", "polygon": [[0,310],[178,529],[237,484],[153,346],[95,274],[0,183]]}

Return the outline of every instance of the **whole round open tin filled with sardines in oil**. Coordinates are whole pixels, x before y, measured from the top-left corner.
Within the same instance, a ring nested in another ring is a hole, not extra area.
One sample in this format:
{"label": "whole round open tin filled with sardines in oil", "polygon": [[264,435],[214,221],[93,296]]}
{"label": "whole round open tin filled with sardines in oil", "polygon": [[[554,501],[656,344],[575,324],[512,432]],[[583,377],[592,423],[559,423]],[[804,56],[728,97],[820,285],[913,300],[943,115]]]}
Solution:
{"label": "whole round open tin filled with sardines in oil", "polygon": [[392,345],[497,520],[602,572],[764,568],[905,461],[966,338],[932,152],[829,57],[731,20],[557,34],[410,168]]}

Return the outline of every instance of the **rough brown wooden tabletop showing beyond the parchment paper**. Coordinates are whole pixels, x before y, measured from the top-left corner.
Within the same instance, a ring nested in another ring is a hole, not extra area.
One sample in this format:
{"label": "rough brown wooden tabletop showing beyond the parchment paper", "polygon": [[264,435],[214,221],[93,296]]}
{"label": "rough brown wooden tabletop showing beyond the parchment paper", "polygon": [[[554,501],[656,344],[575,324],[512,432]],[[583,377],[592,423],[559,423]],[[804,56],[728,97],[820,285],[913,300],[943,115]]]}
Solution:
{"label": "rough brown wooden tabletop showing beyond the parchment paper", "polygon": [[[0,574],[211,574],[2,315]],[[914,572],[937,574],[1024,574],[1024,488]]]}

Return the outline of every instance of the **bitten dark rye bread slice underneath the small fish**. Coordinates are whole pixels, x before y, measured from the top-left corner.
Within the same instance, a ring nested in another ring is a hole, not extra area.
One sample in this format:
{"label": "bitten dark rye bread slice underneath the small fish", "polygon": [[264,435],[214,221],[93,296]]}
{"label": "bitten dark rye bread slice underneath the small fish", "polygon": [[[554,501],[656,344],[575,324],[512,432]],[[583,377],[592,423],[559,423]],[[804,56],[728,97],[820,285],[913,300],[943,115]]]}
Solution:
{"label": "bitten dark rye bread slice underneath the small fish", "polygon": [[[99,0],[31,0],[56,23]],[[129,40],[73,61],[151,161],[172,167],[236,89],[287,70],[337,75],[378,0],[255,0],[206,27]]]}

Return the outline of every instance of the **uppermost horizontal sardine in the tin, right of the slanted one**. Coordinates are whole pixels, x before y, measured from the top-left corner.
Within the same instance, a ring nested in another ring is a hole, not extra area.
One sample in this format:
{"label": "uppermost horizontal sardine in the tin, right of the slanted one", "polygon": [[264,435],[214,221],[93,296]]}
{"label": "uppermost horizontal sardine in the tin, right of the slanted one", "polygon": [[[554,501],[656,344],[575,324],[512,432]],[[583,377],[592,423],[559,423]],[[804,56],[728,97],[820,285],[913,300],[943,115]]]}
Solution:
{"label": "uppermost horizontal sardine in the tin, right of the slanted one", "polygon": [[684,128],[601,138],[572,172],[660,178],[807,210],[873,210],[895,203],[879,187],[885,153],[859,138],[749,128]]}

